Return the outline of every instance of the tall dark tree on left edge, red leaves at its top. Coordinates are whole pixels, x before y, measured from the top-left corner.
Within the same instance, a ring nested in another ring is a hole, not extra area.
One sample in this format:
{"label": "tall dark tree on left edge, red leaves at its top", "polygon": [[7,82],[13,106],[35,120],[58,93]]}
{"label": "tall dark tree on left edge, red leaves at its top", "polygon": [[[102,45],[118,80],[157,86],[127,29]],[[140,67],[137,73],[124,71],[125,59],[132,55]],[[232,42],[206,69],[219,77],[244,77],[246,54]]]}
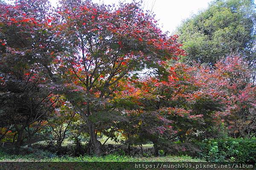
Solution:
{"label": "tall dark tree on left edge, red leaves at its top", "polygon": [[[44,4],[42,1],[42,6]],[[23,140],[31,138],[54,110],[59,95],[43,88],[47,78],[29,55],[35,44],[30,39],[33,34],[30,35],[32,32],[27,28],[34,29],[35,18],[39,20],[44,16],[44,13],[36,16],[42,6],[29,8],[23,1],[17,1],[16,5],[16,9],[11,5],[0,5],[0,116],[2,127],[12,127],[15,132],[16,153],[19,153]],[[27,18],[27,14],[31,16]]]}

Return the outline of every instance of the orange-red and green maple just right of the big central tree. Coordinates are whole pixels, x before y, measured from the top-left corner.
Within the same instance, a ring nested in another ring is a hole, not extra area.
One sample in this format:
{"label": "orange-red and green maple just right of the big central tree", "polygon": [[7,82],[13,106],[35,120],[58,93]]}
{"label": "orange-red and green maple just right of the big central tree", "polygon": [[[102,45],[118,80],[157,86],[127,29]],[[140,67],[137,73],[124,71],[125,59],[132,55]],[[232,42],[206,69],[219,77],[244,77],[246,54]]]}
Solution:
{"label": "orange-red and green maple just right of the big central tree", "polygon": [[[114,101],[127,110],[126,117],[135,117],[134,120],[137,121],[141,120],[140,115],[154,113],[159,122],[153,123],[154,118],[148,116],[148,125],[143,125],[144,129],[139,131],[143,132],[144,138],[148,134],[150,141],[156,146],[155,150],[157,145],[163,146],[164,141],[184,142],[196,138],[198,130],[206,132],[207,128],[214,125],[212,117],[215,111],[221,110],[218,108],[221,105],[219,96],[214,96],[216,91],[202,91],[205,84],[200,82],[202,75],[198,67],[177,63],[168,70],[167,76],[126,81],[123,84],[125,90],[119,92]],[[137,113],[134,114],[137,117],[130,116],[131,111]],[[143,118],[141,122],[146,124],[147,119]],[[145,132],[147,126],[151,132],[159,133],[156,138]]]}

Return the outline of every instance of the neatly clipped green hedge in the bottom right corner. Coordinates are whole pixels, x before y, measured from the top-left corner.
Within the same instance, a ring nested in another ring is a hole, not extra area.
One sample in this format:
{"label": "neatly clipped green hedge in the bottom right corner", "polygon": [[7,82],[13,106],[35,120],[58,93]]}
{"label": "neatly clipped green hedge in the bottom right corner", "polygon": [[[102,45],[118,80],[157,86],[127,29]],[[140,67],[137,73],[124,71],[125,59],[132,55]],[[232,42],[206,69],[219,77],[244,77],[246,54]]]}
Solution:
{"label": "neatly clipped green hedge in the bottom right corner", "polygon": [[208,161],[236,161],[256,163],[256,139],[214,139],[201,145]]}

